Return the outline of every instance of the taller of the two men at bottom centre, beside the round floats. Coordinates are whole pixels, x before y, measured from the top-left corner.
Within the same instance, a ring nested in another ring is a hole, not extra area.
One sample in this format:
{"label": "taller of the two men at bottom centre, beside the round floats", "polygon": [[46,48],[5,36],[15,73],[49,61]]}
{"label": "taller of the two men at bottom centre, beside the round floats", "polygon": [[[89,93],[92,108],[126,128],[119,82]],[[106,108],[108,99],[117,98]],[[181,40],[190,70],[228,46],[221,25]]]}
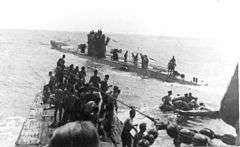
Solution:
{"label": "taller of the two men at bottom centre, beside the round floats", "polygon": [[124,121],[123,131],[121,134],[122,147],[131,147],[132,135],[131,135],[130,131],[133,129],[137,132],[137,129],[135,128],[136,125],[133,125],[133,118],[135,117],[135,115],[136,115],[135,110],[131,109],[129,112],[130,117]]}

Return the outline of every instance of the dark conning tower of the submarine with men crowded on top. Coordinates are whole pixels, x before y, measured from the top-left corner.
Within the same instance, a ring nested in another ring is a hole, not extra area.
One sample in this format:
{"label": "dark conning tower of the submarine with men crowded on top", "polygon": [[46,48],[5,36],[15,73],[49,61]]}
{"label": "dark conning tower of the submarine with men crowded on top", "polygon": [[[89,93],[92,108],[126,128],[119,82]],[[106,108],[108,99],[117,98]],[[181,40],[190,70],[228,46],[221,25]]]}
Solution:
{"label": "dark conning tower of the submarine with men crowded on top", "polygon": [[88,34],[88,56],[96,58],[106,57],[106,46],[110,41],[109,37],[102,34],[101,30],[97,32],[91,31]]}

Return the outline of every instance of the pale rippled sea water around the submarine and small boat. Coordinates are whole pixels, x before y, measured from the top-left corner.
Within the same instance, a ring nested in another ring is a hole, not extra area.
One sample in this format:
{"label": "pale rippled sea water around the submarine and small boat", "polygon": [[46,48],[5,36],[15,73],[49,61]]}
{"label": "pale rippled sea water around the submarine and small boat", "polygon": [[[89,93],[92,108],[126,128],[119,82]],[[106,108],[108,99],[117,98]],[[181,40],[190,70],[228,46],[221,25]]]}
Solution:
{"label": "pale rippled sea water around the submarine and small boat", "polygon": [[[62,53],[50,49],[50,40],[61,40],[76,46],[86,43],[85,32],[55,32],[30,30],[0,30],[0,145],[14,146],[19,131],[28,115],[29,106],[35,95],[48,82],[48,72],[56,66]],[[151,64],[166,67],[175,56],[180,73],[186,79],[197,77],[205,86],[187,86],[166,83],[156,79],[141,78],[136,73],[120,72],[106,65],[93,64],[85,59],[66,54],[66,63],[75,66],[92,66],[100,70],[101,78],[110,75],[110,84],[121,89],[119,100],[135,106],[138,110],[160,120],[174,117],[159,110],[161,97],[172,90],[183,95],[192,92],[199,101],[212,110],[218,110],[236,65],[234,53],[223,48],[218,40],[198,38],[177,38],[144,35],[107,34],[111,38],[108,50],[120,48],[123,51],[147,54]],[[120,55],[122,56],[122,55]],[[130,58],[130,55],[129,55]],[[92,74],[91,70],[88,72]],[[124,121],[129,109],[119,104],[119,118]],[[151,123],[137,114],[135,123]],[[234,129],[219,119],[192,121],[188,127],[208,127],[219,134],[233,134]],[[173,146],[165,131],[159,131],[153,146]]]}

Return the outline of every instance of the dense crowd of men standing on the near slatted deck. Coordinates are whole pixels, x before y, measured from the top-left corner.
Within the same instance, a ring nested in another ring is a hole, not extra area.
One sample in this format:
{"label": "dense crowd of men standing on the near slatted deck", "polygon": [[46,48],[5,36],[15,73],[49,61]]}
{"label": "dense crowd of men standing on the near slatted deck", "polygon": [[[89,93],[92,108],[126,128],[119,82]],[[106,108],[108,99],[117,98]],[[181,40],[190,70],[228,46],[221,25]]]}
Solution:
{"label": "dense crowd of men standing on the near slatted deck", "polygon": [[118,110],[116,99],[120,90],[114,86],[113,90],[108,92],[112,87],[108,84],[109,75],[105,75],[101,80],[98,71],[94,70],[94,75],[87,83],[85,67],[79,70],[79,67],[74,67],[73,64],[66,66],[63,55],[57,62],[55,75],[49,72],[49,76],[49,83],[44,86],[44,103],[49,103],[50,108],[55,109],[52,127],[88,120],[103,135],[111,133],[114,111]]}

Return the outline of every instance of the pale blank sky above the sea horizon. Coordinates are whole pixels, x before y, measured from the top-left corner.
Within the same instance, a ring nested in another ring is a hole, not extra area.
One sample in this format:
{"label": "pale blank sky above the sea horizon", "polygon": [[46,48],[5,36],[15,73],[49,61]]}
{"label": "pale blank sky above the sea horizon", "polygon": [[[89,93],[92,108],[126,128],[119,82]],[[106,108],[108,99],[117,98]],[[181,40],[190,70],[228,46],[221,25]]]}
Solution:
{"label": "pale blank sky above the sea horizon", "polygon": [[0,28],[224,37],[238,32],[239,0],[6,0]]}

